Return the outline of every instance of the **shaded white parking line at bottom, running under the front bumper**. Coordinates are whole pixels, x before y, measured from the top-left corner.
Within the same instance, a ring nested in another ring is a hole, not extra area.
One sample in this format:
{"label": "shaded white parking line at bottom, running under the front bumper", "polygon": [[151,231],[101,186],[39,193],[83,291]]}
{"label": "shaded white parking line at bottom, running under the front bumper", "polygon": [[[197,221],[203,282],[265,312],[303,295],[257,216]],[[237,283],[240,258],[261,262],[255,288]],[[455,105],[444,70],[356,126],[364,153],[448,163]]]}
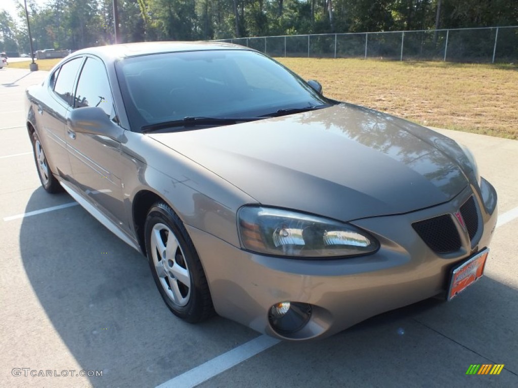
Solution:
{"label": "shaded white parking line at bottom, running under the front bumper", "polygon": [[251,341],[245,342],[226,353],[215,357],[205,364],[199,365],[194,369],[188,370],[185,373],[160,384],[156,388],[192,388],[204,381],[219,375],[225,370],[236,366],[237,364],[248,360],[250,357],[261,353],[263,350],[277,345],[280,340],[266,335],[261,335]]}

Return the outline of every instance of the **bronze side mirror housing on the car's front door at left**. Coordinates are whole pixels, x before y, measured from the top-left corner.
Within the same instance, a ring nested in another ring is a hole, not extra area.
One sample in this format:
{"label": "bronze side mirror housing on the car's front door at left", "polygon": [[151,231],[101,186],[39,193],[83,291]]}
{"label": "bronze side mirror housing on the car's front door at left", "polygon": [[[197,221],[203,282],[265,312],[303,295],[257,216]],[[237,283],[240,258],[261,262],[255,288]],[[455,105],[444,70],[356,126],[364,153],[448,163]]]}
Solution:
{"label": "bronze side mirror housing on the car's front door at left", "polygon": [[107,136],[120,141],[123,129],[114,124],[106,112],[99,107],[82,107],[70,111],[67,126],[74,132]]}

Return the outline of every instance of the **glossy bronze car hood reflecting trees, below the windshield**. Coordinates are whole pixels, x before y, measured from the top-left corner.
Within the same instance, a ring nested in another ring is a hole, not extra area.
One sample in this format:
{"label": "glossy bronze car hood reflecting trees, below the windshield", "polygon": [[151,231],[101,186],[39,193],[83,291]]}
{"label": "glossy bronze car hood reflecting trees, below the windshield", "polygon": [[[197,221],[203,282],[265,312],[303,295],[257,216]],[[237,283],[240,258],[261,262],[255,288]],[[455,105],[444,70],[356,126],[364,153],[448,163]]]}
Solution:
{"label": "glossy bronze car hood reflecting trees, below the windshield", "polygon": [[437,205],[468,184],[449,138],[346,103],[149,136],[263,205],[342,221]]}

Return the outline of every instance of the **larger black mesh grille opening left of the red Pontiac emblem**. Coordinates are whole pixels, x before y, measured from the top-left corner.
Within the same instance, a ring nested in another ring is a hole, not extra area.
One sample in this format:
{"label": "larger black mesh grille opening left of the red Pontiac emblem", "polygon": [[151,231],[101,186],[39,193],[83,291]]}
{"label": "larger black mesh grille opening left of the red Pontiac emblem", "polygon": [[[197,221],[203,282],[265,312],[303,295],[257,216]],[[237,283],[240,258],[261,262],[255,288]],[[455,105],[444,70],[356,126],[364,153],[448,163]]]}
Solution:
{"label": "larger black mesh grille opening left of the red Pontiac emblem", "polygon": [[414,222],[412,227],[434,252],[450,253],[461,249],[461,238],[448,214]]}

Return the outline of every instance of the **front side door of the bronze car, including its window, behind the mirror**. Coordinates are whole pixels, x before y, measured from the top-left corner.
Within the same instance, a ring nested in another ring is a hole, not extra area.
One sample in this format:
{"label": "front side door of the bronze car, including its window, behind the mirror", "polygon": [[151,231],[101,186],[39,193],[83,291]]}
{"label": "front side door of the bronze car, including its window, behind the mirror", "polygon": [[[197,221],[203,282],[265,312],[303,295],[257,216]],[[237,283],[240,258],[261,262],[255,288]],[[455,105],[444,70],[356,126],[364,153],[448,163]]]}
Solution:
{"label": "front side door of the bronze car, including its window, behind the mirror", "polygon": [[[88,56],[77,81],[74,109],[99,107],[117,124],[106,67],[97,57]],[[121,188],[121,143],[113,137],[74,131],[67,127],[67,146],[73,183],[97,208],[124,230],[128,230]]]}

